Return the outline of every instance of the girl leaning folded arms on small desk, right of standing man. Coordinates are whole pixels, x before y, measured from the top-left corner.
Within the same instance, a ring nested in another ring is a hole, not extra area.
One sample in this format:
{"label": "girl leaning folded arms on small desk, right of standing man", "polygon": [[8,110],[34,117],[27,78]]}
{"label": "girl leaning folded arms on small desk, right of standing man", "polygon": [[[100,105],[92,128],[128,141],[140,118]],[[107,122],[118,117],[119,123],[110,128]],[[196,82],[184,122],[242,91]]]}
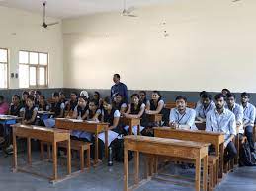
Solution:
{"label": "girl leaning folded arms on small desk, right of standing man", "polygon": [[[124,116],[127,118],[141,118],[139,127],[139,131],[141,132],[147,124],[145,116],[145,104],[143,102],[140,102],[138,94],[133,94],[132,96],[130,96],[130,98],[130,107],[128,107],[128,111],[124,114]],[[128,131],[128,129],[129,126],[126,126],[125,130]],[[134,135],[137,135],[137,126],[132,127],[132,132]]]}

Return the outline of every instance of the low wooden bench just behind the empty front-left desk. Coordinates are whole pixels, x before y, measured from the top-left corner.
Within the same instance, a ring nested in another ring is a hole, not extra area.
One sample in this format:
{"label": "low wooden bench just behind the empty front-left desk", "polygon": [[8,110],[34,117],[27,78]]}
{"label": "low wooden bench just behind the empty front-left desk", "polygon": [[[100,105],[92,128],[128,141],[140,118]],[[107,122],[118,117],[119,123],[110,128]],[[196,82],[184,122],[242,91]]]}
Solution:
{"label": "low wooden bench just behind the empty front-left desk", "polygon": [[[47,158],[50,159],[49,156],[49,150],[50,150],[50,145],[49,143],[41,142],[41,158],[43,159],[43,146],[44,144],[47,145]],[[78,140],[71,140],[71,150],[78,151],[79,152],[79,157],[80,157],[80,170],[81,172],[84,171],[84,151],[86,151],[86,167],[89,170],[90,169],[90,146],[91,143],[83,142],[83,141],[78,141]],[[59,142],[57,144],[58,148],[66,148],[66,144],[64,142]]]}

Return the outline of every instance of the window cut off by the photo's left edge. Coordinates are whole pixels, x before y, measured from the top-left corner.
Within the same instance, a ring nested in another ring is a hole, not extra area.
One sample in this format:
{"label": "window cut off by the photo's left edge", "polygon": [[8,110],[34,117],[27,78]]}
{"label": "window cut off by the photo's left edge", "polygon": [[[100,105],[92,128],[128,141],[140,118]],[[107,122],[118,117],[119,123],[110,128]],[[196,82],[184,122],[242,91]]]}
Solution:
{"label": "window cut off by the photo's left edge", "polygon": [[8,88],[8,50],[0,48],[0,89]]}

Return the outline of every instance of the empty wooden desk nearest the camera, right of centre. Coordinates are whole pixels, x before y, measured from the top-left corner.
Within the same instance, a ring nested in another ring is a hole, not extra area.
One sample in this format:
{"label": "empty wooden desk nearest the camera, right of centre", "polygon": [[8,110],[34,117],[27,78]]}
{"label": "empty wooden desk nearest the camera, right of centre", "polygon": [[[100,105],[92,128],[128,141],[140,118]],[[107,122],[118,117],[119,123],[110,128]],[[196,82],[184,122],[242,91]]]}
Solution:
{"label": "empty wooden desk nearest the camera, right of centre", "polygon": [[[207,190],[208,179],[208,146],[210,144],[158,137],[128,135],[124,149],[124,190],[132,190],[139,186],[139,152],[157,156],[180,157],[196,161],[196,191],[200,190],[201,159],[203,159],[203,187]],[[128,151],[134,151],[135,185],[128,187]]]}

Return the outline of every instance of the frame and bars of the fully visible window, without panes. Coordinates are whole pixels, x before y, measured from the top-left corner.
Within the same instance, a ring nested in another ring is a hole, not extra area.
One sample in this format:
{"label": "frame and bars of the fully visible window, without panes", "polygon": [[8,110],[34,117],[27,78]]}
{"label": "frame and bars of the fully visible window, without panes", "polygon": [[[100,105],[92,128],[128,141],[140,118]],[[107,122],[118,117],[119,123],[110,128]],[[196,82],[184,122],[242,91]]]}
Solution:
{"label": "frame and bars of the fully visible window, without panes", "polygon": [[[20,52],[27,52],[28,53],[28,63],[20,63]],[[30,64],[30,53],[37,53],[38,54],[38,64]],[[40,54],[47,54],[47,64],[46,65],[40,64]],[[48,88],[48,65],[49,65],[48,52],[21,49],[21,50],[19,50],[19,66],[20,65],[26,65],[26,66],[29,67],[29,87],[26,87],[25,89]],[[30,67],[35,67],[36,68],[36,85],[35,86],[30,85]],[[45,85],[40,85],[39,84],[39,78],[40,78],[39,69],[40,68],[44,68],[44,70],[45,70],[45,73],[44,73]],[[20,74],[19,74],[19,76],[20,76]],[[23,88],[20,87],[20,82],[19,82],[19,88],[23,89]]]}

